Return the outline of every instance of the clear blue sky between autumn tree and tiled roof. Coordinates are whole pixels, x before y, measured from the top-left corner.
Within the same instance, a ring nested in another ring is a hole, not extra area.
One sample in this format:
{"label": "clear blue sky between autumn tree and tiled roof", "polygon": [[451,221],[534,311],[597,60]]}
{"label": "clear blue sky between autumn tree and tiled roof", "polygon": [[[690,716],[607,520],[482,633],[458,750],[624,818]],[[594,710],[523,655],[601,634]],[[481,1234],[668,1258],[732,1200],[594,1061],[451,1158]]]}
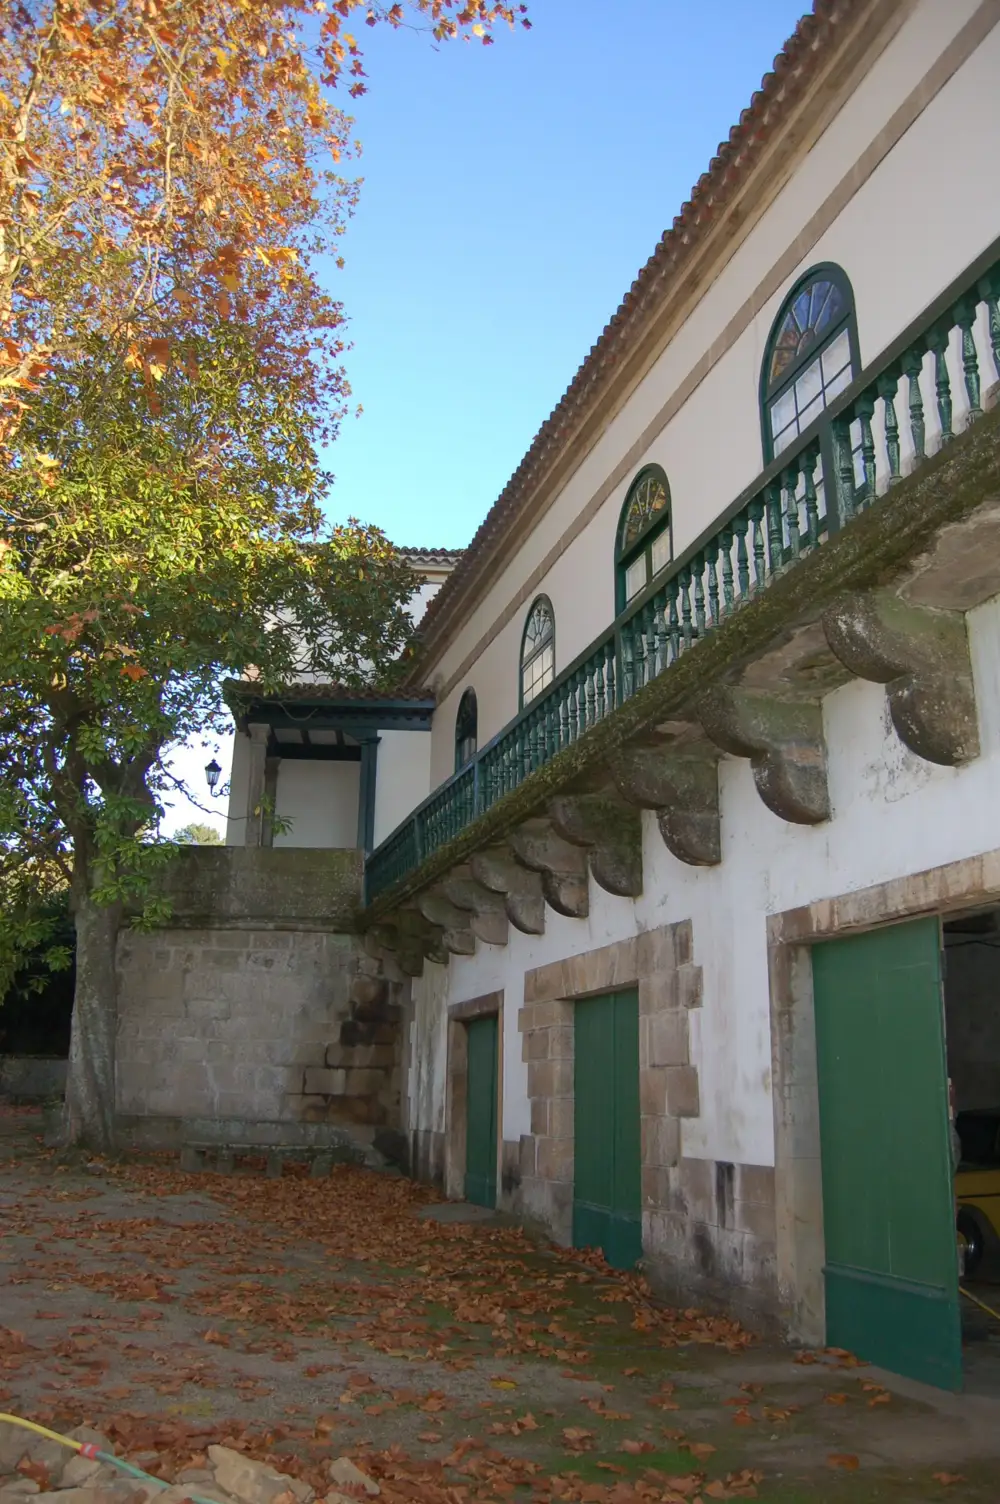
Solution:
{"label": "clear blue sky between autumn tree and tiled roof", "polygon": [[361,418],[329,513],[472,537],[794,30],[802,0],[531,0],[495,47],[359,27],[347,266]]}

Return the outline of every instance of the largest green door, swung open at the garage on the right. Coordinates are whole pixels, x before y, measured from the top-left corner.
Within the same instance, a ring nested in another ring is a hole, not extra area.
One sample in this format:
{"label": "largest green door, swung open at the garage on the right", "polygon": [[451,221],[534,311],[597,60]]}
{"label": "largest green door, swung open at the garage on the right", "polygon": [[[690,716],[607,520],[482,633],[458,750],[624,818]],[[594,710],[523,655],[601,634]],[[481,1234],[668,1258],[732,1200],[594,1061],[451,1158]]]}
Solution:
{"label": "largest green door, swung open at the garage on the right", "polygon": [[827,1342],[962,1382],[937,919],[812,951]]}

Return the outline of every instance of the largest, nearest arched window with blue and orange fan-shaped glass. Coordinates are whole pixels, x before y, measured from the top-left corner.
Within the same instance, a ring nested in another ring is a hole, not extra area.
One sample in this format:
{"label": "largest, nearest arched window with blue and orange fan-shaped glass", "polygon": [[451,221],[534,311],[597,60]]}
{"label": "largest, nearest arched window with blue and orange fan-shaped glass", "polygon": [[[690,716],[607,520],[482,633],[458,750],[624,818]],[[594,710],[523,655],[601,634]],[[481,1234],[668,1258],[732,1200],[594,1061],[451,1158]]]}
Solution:
{"label": "largest, nearest arched window with blue and orange fan-shaped glass", "polygon": [[764,460],[820,417],[860,368],[854,293],[839,266],[814,266],[774,319],[761,370]]}

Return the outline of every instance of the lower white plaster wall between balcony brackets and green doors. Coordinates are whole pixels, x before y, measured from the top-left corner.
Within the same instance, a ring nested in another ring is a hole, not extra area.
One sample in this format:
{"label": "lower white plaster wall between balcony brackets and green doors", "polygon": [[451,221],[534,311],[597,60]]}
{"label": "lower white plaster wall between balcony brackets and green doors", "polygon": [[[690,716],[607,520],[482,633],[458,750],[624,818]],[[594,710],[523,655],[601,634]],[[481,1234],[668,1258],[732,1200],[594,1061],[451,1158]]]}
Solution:
{"label": "lower white plaster wall between balcony brackets and green doors", "polygon": [[[982,752],[974,763],[962,769],[923,763],[896,737],[881,686],[853,681],[824,701],[829,823],[783,823],[759,800],[749,763],[723,760],[719,866],[678,862],[647,814],[642,898],[612,898],[591,881],[589,919],[565,919],[547,908],[544,935],[511,928],[504,948],[480,943],[475,957],[453,957],[448,1003],[501,987],[505,993],[504,1139],[529,1130],[517,1033],[525,972],[690,919],[693,958],[704,969],[704,1005],[690,1015],[701,1116],[683,1125],[684,1154],[773,1163],[767,914],[1000,847],[1000,597],[967,620],[980,713]],[[439,982],[435,987],[439,993]],[[427,1113],[415,1126],[438,1126],[445,1081],[441,1005],[421,1036],[424,1015],[414,996],[417,1042],[426,1060],[417,1107]]]}

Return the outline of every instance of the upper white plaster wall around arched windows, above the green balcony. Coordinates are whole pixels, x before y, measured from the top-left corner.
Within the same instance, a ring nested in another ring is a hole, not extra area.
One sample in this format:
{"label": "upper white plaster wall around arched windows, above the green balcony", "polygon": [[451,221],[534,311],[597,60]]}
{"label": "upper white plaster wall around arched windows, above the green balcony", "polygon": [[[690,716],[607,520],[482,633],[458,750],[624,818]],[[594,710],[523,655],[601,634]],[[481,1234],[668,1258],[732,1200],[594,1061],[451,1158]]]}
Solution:
{"label": "upper white plaster wall around arched windows, above the green balcony", "polygon": [[[484,591],[459,641],[433,665],[433,672],[445,683],[976,8],[976,0],[953,0],[947,6],[940,0],[923,0],[917,5],[629,403],[582,457],[517,556]],[[1000,27],[928,104],[636,462],[639,469],[642,463],[657,460],[668,472],[677,552],[693,541],[762,469],[759,364],[780,301],[803,271],[823,260],[844,266],[854,286],[865,362],[878,355],[1000,233],[1000,206],[988,186],[997,177],[997,77]],[[665,218],[674,212],[672,205],[663,209]],[[989,379],[986,371],[986,382]],[[576,657],[612,621],[614,534],[627,486],[629,480],[624,480],[615,487],[583,534],[564,549],[538,585],[555,608],[558,668]],[[480,705],[480,744],[516,714],[517,651],[528,606],[529,602],[525,602],[516,620],[495,638],[439,707],[432,747],[435,787],[453,772],[454,717],[468,683],[474,684]]]}

